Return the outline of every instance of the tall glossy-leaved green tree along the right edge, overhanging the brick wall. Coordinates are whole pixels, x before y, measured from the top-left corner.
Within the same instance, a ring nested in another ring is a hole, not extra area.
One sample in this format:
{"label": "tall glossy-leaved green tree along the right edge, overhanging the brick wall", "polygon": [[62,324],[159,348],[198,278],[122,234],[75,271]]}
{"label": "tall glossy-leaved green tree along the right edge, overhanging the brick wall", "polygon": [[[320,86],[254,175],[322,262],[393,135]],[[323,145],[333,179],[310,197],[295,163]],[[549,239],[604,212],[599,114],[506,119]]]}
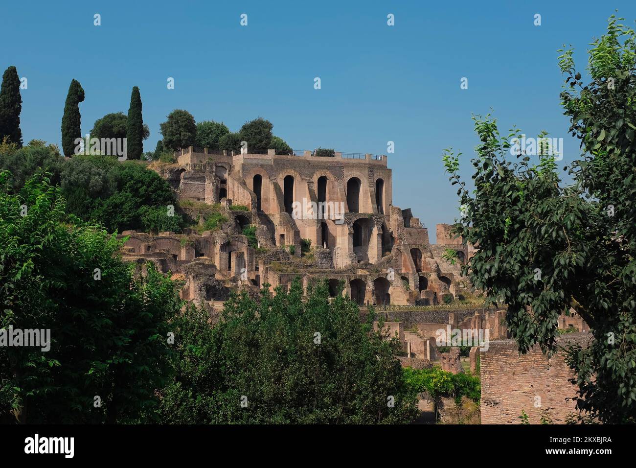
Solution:
{"label": "tall glossy-leaved green tree along the right edge, overhanging the brick wall", "polygon": [[459,155],[444,157],[462,203],[455,233],[479,246],[463,273],[490,301],[508,304],[522,352],[534,343],[555,350],[560,313],[574,308],[584,318],[593,341],[567,346],[567,362],[577,407],[605,423],[636,422],[634,38],[612,16],[591,43],[587,85],[572,49],[560,51],[562,105],[582,150],[569,167],[571,183],[558,175],[550,145],[539,145],[531,162],[516,146],[520,131],[502,138],[490,116],[474,118],[481,143],[473,194],[460,179]]}

